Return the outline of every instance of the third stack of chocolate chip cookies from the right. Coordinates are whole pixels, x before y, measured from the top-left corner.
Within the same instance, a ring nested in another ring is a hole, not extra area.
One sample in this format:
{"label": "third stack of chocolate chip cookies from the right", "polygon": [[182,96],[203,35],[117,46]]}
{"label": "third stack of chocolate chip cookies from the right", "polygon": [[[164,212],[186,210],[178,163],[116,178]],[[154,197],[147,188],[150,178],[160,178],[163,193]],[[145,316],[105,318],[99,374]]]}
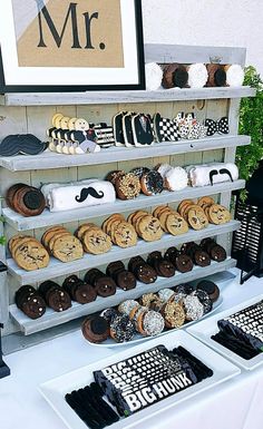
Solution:
{"label": "third stack of chocolate chip cookies from the right", "polygon": [[158,206],[154,209],[153,214],[159,220],[162,228],[166,233],[179,235],[188,232],[187,222],[169,206]]}

